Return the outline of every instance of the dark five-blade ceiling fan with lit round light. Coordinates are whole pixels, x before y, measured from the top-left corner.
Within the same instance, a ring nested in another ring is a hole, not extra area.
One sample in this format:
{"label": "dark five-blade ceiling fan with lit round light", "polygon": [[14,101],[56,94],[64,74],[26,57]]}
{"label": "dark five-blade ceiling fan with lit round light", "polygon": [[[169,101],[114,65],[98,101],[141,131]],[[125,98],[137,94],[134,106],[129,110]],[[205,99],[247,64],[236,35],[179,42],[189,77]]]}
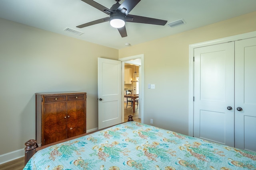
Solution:
{"label": "dark five-blade ceiling fan with lit round light", "polygon": [[122,4],[119,4],[120,0],[115,0],[116,4],[112,5],[110,9],[102,6],[101,4],[98,4],[93,0],[82,1],[108,14],[109,17],[76,26],[78,28],[88,27],[97,23],[110,21],[110,25],[118,29],[121,37],[127,37],[125,22],[148,23],[154,25],[165,25],[167,23],[166,20],[130,15],[129,12],[140,2],[140,0],[124,0]]}

